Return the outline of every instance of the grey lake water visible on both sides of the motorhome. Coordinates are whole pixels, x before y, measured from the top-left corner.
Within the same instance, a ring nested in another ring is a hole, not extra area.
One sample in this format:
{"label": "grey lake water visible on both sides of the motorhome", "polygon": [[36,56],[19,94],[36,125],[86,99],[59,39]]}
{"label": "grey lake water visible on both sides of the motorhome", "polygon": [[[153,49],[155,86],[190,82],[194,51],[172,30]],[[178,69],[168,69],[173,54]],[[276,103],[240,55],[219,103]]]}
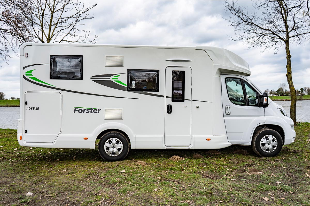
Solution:
{"label": "grey lake water visible on both sides of the motorhome", "polygon": [[[276,101],[280,104],[288,116],[290,116],[290,101]],[[297,101],[296,121],[310,122],[310,100]],[[0,107],[0,128],[17,129],[17,119],[19,119],[19,107]]]}

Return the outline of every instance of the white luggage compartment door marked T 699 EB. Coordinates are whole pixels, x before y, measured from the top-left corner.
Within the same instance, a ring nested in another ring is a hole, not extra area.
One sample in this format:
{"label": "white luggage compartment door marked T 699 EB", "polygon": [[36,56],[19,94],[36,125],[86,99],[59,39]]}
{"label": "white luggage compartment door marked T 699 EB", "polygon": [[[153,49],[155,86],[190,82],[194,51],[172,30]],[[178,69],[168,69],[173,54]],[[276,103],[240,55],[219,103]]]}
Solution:
{"label": "white luggage compartment door marked T 699 EB", "polygon": [[59,92],[26,92],[26,142],[54,142],[61,131],[62,98]]}

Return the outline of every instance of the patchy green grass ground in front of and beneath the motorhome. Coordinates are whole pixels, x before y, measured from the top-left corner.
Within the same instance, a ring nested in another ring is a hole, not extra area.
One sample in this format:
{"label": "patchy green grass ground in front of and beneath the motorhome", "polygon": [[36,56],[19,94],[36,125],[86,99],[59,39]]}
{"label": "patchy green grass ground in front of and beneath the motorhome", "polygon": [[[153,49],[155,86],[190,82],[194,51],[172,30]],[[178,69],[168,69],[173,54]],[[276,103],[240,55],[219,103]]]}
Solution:
{"label": "patchy green grass ground in front of and beneath the motorhome", "polygon": [[105,162],[95,149],[22,147],[16,130],[0,129],[0,205],[310,205],[310,123],[295,130],[274,158],[231,146],[137,149]]}

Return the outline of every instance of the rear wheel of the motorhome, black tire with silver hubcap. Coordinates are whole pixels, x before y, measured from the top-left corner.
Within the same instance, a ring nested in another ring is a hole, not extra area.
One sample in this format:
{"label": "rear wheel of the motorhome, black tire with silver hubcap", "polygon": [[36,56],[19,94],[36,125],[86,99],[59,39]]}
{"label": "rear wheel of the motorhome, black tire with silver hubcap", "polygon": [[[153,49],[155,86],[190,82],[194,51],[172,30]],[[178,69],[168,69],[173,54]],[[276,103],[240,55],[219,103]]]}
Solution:
{"label": "rear wheel of the motorhome, black tire with silver hubcap", "polygon": [[121,132],[108,132],[100,138],[98,150],[107,161],[121,161],[129,153],[129,141]]}

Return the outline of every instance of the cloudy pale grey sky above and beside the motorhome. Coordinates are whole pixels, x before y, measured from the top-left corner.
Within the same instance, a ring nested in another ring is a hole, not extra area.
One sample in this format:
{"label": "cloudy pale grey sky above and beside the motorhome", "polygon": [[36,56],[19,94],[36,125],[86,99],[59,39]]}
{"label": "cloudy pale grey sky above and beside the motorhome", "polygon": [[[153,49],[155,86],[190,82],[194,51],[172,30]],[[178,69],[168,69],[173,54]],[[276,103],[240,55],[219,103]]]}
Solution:
{"label": "cloudy pale grey sky above and beside the motorhome", "polygon": [[[83,1],[97,6],[90,11],[84,29],[95,35],[96,44],[158,46],[215,46],[226,48],[250,66],[250,80],[261,90],[277,90],[286,80],[284,46],[277,54],[271,49],[248,48],[231,40],[233,28],[223,19],[223,1]],[[252,1],[238,1],[248,9]],[[310,41],[290,47],[295,89],[310,87]],[[6,98],[20,96],[20,59],[11,54],[0,68],[0,92]]]}

